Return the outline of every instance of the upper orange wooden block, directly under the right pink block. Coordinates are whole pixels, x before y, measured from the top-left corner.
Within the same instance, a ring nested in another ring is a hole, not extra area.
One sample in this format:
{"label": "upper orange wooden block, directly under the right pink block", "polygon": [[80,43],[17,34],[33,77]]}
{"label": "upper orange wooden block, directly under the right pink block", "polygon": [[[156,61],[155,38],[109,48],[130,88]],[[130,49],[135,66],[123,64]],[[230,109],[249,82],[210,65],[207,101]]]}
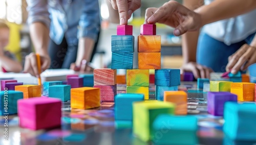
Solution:
{"label": "upper orange wooden block, directly under the right pink block", "polygon": [[160,35],[139,35],[138,36],[139,53],[160,53],[161,36]]}

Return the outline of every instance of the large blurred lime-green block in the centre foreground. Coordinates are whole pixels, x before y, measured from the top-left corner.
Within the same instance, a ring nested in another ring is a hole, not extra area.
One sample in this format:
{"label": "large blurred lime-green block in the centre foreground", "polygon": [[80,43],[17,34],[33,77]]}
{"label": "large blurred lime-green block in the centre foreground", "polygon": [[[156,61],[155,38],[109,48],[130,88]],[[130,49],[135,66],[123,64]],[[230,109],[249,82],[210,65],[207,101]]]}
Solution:
{"label": "large blurred lime-green block in the centre foreground", "polygon": [[169,102],[133,103],[133,133],[143,141],[152,140],[153,123],[160,114],[174,114],[175,105]]}

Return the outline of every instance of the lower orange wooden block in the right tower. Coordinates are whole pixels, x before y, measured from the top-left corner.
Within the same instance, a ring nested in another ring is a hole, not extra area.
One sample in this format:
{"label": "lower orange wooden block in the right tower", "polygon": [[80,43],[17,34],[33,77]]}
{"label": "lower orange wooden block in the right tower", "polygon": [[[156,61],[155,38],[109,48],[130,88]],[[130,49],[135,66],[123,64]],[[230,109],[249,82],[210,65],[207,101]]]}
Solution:
{"label": "lower orange wooden block in the right tower", "polygon": [[160,69],[161,53],[138,53],[139,69]]}

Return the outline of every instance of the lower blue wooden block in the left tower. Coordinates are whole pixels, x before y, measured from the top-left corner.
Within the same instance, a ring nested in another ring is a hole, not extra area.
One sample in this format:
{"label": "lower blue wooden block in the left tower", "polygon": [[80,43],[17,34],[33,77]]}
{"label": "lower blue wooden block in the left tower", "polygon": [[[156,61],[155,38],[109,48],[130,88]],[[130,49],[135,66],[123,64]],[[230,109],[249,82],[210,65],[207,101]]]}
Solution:
{"label": "lower blue wooden block in the left tower", "polygon": [[133,69],[133,53],[112,53],[111,69]]}

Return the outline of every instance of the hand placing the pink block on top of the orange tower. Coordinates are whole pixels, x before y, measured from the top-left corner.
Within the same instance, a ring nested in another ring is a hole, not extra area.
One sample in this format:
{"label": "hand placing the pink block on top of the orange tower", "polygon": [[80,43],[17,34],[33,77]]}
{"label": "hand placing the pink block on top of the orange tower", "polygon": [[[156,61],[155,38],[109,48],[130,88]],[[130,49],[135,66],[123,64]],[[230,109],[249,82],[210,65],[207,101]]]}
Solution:
{"label": "hand placing the pink block on top of the orange tower", "polygon": [[201,28],[201,16],[176,1],[169,1],[160,8],[147,8],[145,22],[164,23],[174,27],[174,35],[180,36],[187,31],[197,31]]}

